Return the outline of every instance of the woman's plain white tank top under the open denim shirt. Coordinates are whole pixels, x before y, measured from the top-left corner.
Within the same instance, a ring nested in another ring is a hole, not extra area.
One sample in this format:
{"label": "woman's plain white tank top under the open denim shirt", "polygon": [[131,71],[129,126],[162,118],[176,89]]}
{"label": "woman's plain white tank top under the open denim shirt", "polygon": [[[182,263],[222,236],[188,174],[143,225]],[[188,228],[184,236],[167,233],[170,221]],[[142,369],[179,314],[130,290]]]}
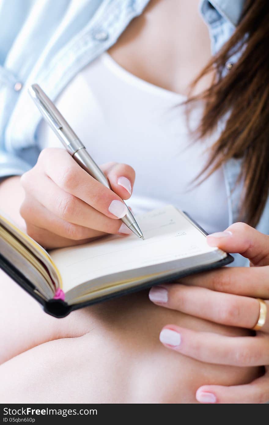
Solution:
{"label": "woman's plain white tank top under the open denim shirt", "polygon": [[[117,161],[136,171],[127,205],[134,213],[165,204],[188,212],[211,233],[228,226],[227,193],[219,169],[196,187],[191,182],[208,159],[216,134],[193,142],[203,105],[195,105],[187,122],[184,96],[135,77],[108,53],[85,67],[55,102],[88,152],[103,164]],[[40,147],[62,147],[41,122]],[[207,150],[207,151],[206,151]]]}

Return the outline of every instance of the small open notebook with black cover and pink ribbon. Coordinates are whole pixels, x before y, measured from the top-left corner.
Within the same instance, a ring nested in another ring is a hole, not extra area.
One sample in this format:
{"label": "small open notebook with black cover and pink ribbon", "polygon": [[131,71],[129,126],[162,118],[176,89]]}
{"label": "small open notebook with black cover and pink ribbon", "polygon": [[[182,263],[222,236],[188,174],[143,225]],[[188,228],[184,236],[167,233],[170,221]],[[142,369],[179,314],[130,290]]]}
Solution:
{"label": "small open notebook with black cover and pink ribbon", "polygon": [[0,267],[55,317],[153,284],[212,269],[233,258],[172,205],[137,217],[145,240],[109,235],[46,252],[0,214]]}

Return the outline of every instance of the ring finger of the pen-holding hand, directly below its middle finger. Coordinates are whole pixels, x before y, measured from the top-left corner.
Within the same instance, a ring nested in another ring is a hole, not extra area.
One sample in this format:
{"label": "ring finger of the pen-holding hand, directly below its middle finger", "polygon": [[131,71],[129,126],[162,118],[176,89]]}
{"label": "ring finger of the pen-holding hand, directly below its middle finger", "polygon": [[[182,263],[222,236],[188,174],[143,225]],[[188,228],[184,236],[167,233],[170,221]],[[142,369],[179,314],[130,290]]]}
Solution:
{"label": "ring finger of the pen-holding hand, directly below its middle finger", "polygon": [[[29,207],[30,205],[31,207]],[[31,223],[35,227],[48,230],[54,235],[73,241],[81,241],[82,239],[91,239],[106,235],[105,232],[99,232],[98,230],[89,229],[88,227],[79,226],[58,218],[28,194],[21,205],[20,215],[24,218],[26,223]]]}

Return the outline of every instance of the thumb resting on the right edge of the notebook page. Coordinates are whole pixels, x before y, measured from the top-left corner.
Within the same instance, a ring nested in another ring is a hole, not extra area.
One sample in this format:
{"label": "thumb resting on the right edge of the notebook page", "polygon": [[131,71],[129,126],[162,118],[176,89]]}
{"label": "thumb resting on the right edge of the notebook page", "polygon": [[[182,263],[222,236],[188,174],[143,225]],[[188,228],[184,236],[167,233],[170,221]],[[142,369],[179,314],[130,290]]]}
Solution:
{"label": "thumb resting on the right edge of the notebook page", "polygon": [[224,232],[207,236],[210,246],[218,246],[226,252],[238,252],[254,266],[269,265],[269,236],[245,223],[235,223]]}

